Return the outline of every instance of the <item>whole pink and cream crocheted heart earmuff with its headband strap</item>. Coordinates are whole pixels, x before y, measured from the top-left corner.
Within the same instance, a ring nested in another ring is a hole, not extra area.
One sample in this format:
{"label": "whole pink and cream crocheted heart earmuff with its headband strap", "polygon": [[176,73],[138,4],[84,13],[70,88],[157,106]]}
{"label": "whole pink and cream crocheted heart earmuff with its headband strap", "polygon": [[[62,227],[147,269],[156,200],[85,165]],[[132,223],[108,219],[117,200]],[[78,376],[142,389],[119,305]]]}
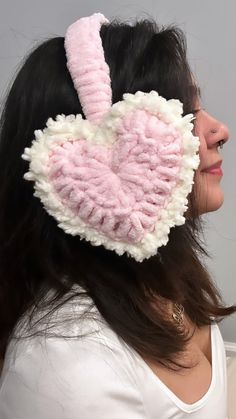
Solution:
{"label": "whole pink and cream crocheted heart earmuff with its headband strap", "polygon": [[199,165],[193,115],[156,91],[124,94],[112,105],[100,13],[65,37],[68,69],[84,115],[58,115],[35,131],[24,178],[66,233],[141,262],[185,222]]}

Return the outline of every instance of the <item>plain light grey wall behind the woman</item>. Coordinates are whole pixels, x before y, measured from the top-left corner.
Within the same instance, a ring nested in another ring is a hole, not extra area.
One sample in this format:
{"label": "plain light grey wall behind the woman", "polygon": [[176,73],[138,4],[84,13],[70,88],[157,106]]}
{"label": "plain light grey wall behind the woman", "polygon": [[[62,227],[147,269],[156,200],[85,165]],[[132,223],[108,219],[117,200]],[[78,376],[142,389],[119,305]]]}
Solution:
{"label": "plain light grey wall behind the woman", "polygon": [[[230,128],[224,159],[224,206],[205,216],[210,271],[228,304],[236,302],[236,2],[234,0],[0,0],[0,95],[3,98],[20,60],[38,40],[64,36],[79,17],[101,12],[113,17],[154,17],[176,23],[188,40],[190,63],[203,93],[203,106]],[[50,115],[49,115],[50,116]],[[236,343],[236,316],[221,325],[226,341]]]}

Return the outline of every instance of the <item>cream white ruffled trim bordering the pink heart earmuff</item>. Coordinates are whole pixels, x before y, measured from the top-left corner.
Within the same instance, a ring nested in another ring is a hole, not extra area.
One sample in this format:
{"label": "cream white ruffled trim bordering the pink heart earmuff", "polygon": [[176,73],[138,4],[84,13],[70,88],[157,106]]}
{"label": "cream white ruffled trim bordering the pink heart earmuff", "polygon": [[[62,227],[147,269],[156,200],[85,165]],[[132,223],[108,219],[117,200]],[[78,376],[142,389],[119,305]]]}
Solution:
{"label": "cream white ruffled trim bordering the pink heart earmuff", "polygon": [[[68,140],[86,137],[91,143],[112,146],[116,141],[116,129],[120,119],[127,112],[146,109],[157,115],[162,121],[171,123],[181,134],[183,157],[179,172],[179,183],[175,187],[172,197],[165,209],[160,211],[160,218],[155,229],[147,233],[137,244],[113,241],[86,225],[78,216],[62,205],[53,185],[49,180],[49,156],[59,144]],[[170,228],[185,223],[183,214],[187,210],[188,195],[192,190],[194,170],[198,168],[199,139],[192,134],[193,115],[182,117],[182,104],[175,99],[166,100],[157,92],[136,92],[134,95],[125,94],[124,100],[115,103],[104,118],[102,127],[96,127],[89,121],[83,120],[81,115],[58,115],[56,121],[49,119],[47,128],[35,131],[35,140],[31,148],[26,148],[22,158],[30,162],[29,172],[24,178],[34,181],[34,195],[43,203],[46,211],[57,221],[60,228],[73,236],[91,242],[92,245],[103,245],[106,249],[114,250],[118,255],[127,252],[138,262],[142,262],[156,254],[157,249],[168,242]],[[82,123],[81,123],[82,122]],[[161,221],[160,221],[161,220]]]}

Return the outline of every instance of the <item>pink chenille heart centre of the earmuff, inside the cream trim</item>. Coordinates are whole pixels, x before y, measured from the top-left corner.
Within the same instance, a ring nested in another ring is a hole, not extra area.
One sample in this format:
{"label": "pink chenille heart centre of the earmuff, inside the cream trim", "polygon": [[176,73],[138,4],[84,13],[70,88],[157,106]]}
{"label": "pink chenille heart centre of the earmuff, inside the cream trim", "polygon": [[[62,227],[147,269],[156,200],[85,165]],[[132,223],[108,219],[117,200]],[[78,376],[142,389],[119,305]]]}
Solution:
{"label": "pink chenille heart centre of the earmuff, inside the cream trim", "polygon": [[113,144],[77,138],[58,145],[49,177],[63,205],[87,225],[138,243],[154,230],[179,182],[181,144],[172,124],[137,109],[120,120]]}

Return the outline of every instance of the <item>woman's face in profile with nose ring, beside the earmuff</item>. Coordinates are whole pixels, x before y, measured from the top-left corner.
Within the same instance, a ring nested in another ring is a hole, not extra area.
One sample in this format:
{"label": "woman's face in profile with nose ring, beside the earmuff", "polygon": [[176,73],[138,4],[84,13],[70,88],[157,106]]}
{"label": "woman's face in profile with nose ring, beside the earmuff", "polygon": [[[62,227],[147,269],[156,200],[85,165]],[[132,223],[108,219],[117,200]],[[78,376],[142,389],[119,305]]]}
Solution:
{"label": "woman's face in profile with nose ring, beside the earmuff", "polygon": [[204,214],[221,207],[224,194],[220,181],[222,157],[219,147],[229,138],[228,128],[201,108],[198,101],[194,111],[194,133],[200,139],[200,165],[196,171],[195,193],[198,213]]}

